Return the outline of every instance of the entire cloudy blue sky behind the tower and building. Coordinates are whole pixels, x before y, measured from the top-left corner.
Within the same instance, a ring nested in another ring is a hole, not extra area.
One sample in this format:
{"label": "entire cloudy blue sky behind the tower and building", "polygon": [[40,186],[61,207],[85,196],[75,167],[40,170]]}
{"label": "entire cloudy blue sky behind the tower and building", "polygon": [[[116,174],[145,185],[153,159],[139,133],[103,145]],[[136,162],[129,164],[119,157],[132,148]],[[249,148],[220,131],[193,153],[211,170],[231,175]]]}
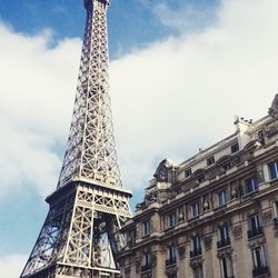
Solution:
{"label": "entire cloudy blue sky behind the tower and building", "polygon": [[[112,0],[110,93],[131,207],[176,163],[259,119],[277,92],[277,0]],[[16,278],[47,216],[71,120],[80,0],[0,1],[0,274]]]}

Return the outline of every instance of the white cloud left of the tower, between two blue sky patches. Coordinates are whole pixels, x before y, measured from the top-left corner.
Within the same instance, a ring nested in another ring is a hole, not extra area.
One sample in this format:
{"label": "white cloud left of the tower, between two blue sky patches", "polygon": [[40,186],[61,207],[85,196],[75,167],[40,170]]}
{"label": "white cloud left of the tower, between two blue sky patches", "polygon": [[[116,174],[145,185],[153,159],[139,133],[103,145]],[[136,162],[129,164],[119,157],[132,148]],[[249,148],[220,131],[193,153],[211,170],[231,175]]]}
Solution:
{"label": "white cloud left of the tower, between two blue sky patches", "polygon": [[54,148],[67,139],[80,41],[49,49],[48,31],[28,37],[3,24],[0,36],[0,199],[30,187],[44,197],[61,168]]}

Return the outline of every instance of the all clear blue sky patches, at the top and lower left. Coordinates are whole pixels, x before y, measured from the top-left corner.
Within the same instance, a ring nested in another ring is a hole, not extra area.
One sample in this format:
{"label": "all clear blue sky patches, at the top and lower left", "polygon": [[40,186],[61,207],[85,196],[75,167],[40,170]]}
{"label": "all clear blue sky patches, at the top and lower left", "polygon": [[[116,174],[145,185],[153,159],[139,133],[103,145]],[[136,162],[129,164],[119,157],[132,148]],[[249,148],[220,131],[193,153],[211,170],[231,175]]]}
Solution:
{"label": "all clear blue sky patches, at the top and lower left", "polygon": [[[178,36],[179,30],[161,23],[155,12],[160,1],[125,0],[112,1],[109,8],[109,47],[111,59],[125,56],[132,49],[140,49],[153,41],[168,36]],[[169,9],[178,10],[183,1],[165,1]],[[195,1],[188,4],[196,6]],[[198,1],[196,9],[206,8],[208,1]],[[207,8],[215,7],[210,1]],[[80,0],[2,0],[0,19],[17,33],[26,37],[37,36],[49,31],[51,38],[48,47],[54,46],[66,38],[82,38],[85,24],[85,9]],[[199,24],[199,23],[198,23]],[[60,145],[58,145],[60,146]],[[56,150],[62,157],[63,149]],[[52,185],[53,189],[56,185]],[[142,193],[140,193],[140,198]],[[132,207],[138,201],[132,201]],[[11,208],[11,203],[12,205]],[[24,190],[20,196],[9,196],[0,203],[0,257],[14,252],[29,252],[38,231],[44,220],[48,207],[36,190]],[[31,217],[30,217],[31,216]],[[31,244],[31,245],[30,245]]]}

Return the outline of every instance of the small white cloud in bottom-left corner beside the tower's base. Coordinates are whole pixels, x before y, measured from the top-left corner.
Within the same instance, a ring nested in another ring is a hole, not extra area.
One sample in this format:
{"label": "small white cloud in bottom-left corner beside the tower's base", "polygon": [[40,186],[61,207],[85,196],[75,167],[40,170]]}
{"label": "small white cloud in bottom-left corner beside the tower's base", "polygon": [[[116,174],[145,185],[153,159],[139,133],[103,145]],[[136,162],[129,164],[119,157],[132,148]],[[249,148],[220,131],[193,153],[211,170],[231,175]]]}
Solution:
{"label": "small white cloud in bottom-left corner beside the tower's base", "polygon": [[0,274],[1,277],[18,278],[24,267],[27,256],[11,255],[0,257]]}

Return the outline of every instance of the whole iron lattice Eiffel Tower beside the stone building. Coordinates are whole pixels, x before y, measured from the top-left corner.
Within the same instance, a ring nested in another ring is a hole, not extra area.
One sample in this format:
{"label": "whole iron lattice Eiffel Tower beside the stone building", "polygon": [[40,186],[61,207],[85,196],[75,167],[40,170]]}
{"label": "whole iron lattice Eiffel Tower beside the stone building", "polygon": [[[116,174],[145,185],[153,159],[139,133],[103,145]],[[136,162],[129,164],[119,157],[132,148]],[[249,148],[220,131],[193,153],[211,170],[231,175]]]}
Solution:
{"label": "whole iron lattice Eiffel Tower beside the stone building", "polygon": [[21,278],[117,278],[122,224],[131,218],[120,178],[108,85],[109,0],[85,0],[80,71],[68,146],[49,212]]}

